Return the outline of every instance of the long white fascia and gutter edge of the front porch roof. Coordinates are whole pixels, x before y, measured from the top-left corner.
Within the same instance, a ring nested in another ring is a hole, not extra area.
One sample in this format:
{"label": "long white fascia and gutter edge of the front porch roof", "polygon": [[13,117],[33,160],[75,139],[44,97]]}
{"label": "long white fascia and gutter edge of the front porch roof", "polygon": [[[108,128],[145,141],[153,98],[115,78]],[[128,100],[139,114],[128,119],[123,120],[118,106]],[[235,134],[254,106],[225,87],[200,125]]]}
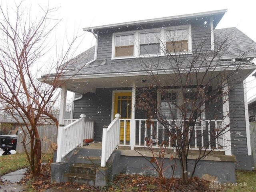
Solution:
{"label": "long white fascia and gutter edge of the front porch roof", "polygon": [[[256,69],[256,65],[255,64],[244,64],[243,66],[241,65],[234,65],[234,66],[217,66],[215,68],[213,68],[212,70],[208,70],[206,68],[201,68],[199,71],[197,72],[206,72],[206,70],[208,71],[223,71],[223,70],[255,70]],[[187,73],[188,71],[191,72],[191,70],[189,68],[184,68],[183,70],[180,70],[182,73]],[[193,71],[192,71],[193,72]],[[175,70],[173,69],[166,69],[166,70],[150,70],[150,74],[172,74],[175,73]],[[256,73],[255,73],[256,74]],[[135,72],[116,72],[116,73],[104,73],[104,74],[84,74],[84,75],[69,75],[69,76],[63,76],[60,77],[59,80],[69,80],[69,79],[90,79],[90,78],[111,78],[111,77],[127,77],[127,76],[145,76],[145,75],[149,75],[148,71],[135,71]],[[46,78],[38,78],[39,81],[41,82],[45,82],[47,84],[51,84],[50,82],[54,81],[54,77],[46,77]]]}

